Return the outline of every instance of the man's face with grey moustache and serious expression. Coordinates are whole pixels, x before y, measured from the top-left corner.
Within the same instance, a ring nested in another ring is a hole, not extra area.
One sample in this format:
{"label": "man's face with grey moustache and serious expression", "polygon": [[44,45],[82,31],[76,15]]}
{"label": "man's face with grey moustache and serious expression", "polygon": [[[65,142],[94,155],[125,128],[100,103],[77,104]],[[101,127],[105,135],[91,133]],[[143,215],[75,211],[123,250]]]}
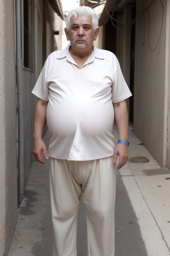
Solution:
{"label": "man's face with grey moustache and serious expression", "polygon": [[99,29],[94,31],[90,15],[82,15],[71,19],[69,31],[65,29],[66,38],[76,51],[91,51],[92,44],[98,36]]}

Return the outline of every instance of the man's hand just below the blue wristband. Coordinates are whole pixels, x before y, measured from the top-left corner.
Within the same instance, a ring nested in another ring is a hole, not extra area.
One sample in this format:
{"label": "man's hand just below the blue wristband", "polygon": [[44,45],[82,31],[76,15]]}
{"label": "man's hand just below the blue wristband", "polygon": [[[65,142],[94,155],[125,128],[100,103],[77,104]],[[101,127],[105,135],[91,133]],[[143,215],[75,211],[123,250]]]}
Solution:
{"label": "man's hand just below the blue wristband", "polygon": [[119,156],[117,169],[122,168],[128,161],[128,147],[122,143],[118,143],[114,150],[113,163],[116,163]]}

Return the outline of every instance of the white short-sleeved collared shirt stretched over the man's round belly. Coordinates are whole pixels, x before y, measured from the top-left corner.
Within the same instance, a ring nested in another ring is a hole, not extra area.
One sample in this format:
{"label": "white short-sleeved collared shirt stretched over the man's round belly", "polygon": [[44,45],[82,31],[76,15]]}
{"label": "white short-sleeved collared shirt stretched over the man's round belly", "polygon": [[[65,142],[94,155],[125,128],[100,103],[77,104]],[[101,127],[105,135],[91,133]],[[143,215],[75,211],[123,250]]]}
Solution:
{"label": "white short-sleeved collared shirt stretched over the man's round belly", "polygon": [[88,161],[114,154],[113,102],[131,96],[118,59],[110,51],[94,51],[80,68],[69,47],[51,53],[33,93],[48,101],[48,154],[56,159]]}

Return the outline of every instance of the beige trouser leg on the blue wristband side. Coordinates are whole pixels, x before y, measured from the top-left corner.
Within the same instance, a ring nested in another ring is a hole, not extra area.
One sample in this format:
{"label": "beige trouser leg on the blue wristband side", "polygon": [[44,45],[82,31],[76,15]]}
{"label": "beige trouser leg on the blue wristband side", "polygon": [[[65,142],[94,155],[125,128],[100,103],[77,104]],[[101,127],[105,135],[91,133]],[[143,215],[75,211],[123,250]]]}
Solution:
{"label": "beige trouser leg on the blue wristband side", "polygon": [[82,185],[88,256],[114,255],[116,164],[112,157],[87,161],[88,182]]}

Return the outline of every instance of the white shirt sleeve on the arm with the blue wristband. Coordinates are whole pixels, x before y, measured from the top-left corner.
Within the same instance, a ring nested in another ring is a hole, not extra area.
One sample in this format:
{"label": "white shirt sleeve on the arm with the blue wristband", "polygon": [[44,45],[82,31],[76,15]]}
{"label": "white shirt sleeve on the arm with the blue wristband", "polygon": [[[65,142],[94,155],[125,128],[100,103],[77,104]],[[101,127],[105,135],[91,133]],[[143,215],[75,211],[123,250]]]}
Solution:
{"label": "white shirt sleeve on the arm with the blue wristband", "polygon": [[122,74],[120,63],[116,58],[116,72],[114,74],[114,83],[112,85],[112,101],[114,103],[118,103],[120,101],[124,101],[130,96],[131,92]]}

